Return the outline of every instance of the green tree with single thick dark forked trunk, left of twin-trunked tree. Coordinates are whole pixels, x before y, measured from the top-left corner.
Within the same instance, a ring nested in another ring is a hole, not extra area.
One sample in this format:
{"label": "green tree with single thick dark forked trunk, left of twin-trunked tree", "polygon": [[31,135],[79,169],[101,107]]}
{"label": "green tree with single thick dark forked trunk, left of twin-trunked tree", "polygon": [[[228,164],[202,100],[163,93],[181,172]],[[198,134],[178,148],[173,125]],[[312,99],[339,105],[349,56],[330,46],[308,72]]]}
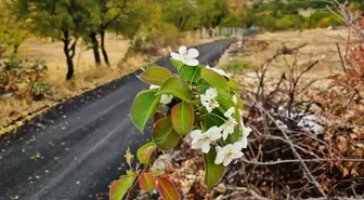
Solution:
{"label": "green tree with single thick dark forked trunk, left of twin-trunked tree", "polygon": [[80,38],[82,14],[76,0],[18,0],[20,14],[28,18],[34,32],[63,42],[67,62],[66,79],[74,76],[73,58]]}

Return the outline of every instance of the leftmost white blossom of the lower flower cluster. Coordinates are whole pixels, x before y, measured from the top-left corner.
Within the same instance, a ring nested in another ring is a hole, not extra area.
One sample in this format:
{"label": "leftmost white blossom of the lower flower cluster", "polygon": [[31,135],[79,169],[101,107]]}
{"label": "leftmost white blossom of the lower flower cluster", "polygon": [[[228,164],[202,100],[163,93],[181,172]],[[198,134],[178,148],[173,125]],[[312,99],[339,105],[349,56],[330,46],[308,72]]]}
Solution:
{"label": "leftmost white blossom of the lower flower cluster", "polygon": [[218,126],[212,126],[205,133],[202,130],[195,130],[191,132],[191,148],[202,149],[207,154],[210,151],[210,144],[221,138],[221,130]]}

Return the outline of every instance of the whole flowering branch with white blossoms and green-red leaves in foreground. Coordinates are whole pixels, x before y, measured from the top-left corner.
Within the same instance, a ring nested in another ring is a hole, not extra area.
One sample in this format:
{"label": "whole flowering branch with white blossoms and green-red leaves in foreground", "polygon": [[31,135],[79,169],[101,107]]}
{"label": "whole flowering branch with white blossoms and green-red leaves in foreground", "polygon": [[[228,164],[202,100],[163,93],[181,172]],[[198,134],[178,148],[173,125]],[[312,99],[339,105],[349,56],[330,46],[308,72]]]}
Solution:
{"label": "whole flowering branch with white blossoms and green-red leaves in foreground", "polygon": [[[128,175],[113,183],[112,200],[120,200],[127,192],[131,198],[138,184],[144,191],[157,188],[165,200],[180,199],[169,177],[150,169],[157,149],[173,150],[181,141],[192,138],[191,148],[204,152],[208,189],[220,182],[225,166],[243,157],[251,129],[244,125],[240,116],[239,86],[222,69],[199,65],[198,55],[196,49],[181,46],[178,53],[171,53],[170,59],[178,74],[164,67],[150,67],[138,76],[150,84],[150,90],[136,95],[130,116],[140,132],[155,117],[153,142],[136,152],[144,169],[128,171]],[[127,157],[131,157],[130,152]]]}

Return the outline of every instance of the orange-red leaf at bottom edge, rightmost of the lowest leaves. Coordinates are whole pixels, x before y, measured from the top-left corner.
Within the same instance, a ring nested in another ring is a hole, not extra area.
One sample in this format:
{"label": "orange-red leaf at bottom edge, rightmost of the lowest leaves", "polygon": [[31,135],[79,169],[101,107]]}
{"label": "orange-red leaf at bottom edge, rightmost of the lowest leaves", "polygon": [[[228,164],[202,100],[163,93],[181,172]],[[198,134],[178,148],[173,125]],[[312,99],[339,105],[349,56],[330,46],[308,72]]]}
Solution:
{"label": "orange-red leaf at bottom edge, rightmost of the lowest leaves", "polygon": [[178,192],[173,183],[166,176],[161,176],[157,182],[157,189],[164,200],[180,200],[180,194]]}

